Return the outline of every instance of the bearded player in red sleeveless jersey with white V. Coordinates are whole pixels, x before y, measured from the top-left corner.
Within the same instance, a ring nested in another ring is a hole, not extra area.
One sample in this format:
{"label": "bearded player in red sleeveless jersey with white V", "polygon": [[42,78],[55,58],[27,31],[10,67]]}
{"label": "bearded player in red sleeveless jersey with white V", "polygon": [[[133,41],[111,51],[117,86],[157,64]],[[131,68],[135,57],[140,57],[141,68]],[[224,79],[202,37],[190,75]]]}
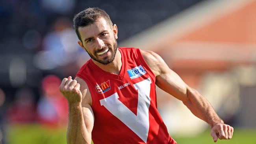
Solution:
{"label": "bearded player in red sleeveless jersey with white V", "polygon": [[232,138],[233,127],[158,54],[117,48],[117,26],[105,11],[85,9],[74,28],[91,59],[59,87],[69,102],[68,144],[176,144],[157,111],[155,85],[207,122],[214,142]]}

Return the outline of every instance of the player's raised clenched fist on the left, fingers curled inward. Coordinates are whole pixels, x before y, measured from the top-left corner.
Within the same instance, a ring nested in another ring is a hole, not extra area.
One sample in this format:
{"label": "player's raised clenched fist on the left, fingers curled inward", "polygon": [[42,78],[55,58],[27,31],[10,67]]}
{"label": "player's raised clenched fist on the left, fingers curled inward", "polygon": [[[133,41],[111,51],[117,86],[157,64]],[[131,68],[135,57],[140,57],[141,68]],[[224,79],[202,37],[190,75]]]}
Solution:
{"label": "player's raised clenched fist on the left, fingers curled inward", "polygon": [[79,104],[82,102],[80,84],[73,80],[71,76],[64,78],[59,86],[59,91],[65,96],[69,104]]}

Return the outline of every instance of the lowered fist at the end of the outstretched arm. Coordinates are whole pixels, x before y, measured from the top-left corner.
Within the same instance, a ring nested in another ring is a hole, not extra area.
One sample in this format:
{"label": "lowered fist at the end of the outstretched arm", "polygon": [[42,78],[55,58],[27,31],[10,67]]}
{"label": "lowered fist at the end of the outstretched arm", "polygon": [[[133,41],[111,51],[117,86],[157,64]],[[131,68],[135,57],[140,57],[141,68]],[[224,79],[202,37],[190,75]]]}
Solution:
{"label": "lowered fist at the end of the outstretched arm", "polygon": [[231,139],[233,136],[234,128],[227,124],[217,123],[211,128],[211,137],[214,142],[217,142],[218,138],[222,139]]}

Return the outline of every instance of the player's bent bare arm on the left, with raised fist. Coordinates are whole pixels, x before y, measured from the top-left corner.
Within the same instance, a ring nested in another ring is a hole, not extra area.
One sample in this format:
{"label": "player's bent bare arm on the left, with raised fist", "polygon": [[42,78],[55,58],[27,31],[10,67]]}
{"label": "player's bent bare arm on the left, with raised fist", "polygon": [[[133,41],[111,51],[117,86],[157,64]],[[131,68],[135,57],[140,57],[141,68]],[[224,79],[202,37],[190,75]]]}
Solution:
{"label": "player's bent bare arm on the left, with raised fist", "polygon": [[91,94],[83,79],[64,78],[59,86],[69,103],[69,126],[67,144],[91,144],[94,116]]}

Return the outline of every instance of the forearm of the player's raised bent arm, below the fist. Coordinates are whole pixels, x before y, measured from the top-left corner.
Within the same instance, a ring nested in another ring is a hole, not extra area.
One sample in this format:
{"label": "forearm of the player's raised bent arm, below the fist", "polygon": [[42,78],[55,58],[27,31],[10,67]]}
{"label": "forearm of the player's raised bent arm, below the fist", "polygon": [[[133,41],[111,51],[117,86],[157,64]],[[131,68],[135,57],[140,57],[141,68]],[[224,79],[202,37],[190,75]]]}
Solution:
{"label": "forearm of the player's raised bent arm, below the fist", "polygon": [[91,144],[91,134],[85,126],[81,104],[69,105],[67,144]]}

